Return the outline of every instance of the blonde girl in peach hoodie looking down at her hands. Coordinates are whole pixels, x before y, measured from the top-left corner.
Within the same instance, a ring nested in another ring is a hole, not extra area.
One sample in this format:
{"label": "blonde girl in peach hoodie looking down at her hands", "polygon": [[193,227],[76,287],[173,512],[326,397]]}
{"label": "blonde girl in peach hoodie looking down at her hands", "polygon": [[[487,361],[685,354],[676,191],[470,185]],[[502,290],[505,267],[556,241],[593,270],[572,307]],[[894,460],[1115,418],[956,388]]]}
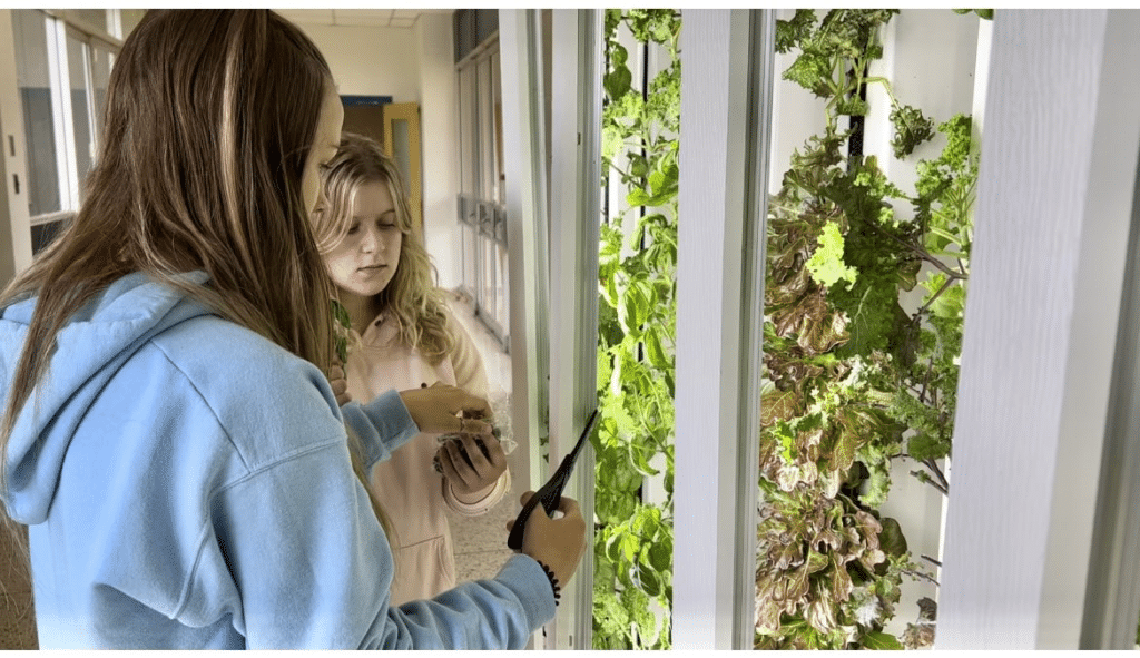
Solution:
{"label": "blonde girl in peach hoodie looking down at her hands", "polygon": [[[376,141],[344,133],[321,179],[327,202],[315,213],[314,228],[352,324],[344,367],[352,399],[439,383],[486,397],[482,359],[433,285],[396,162]],[[474,434],[442,446],[437,438],[416,437],[372,472],[370,490],[394,530],[397,604],[455,585],[446,510],[481,514],[511,488],[498,441],[487,437],[483,453]]]}

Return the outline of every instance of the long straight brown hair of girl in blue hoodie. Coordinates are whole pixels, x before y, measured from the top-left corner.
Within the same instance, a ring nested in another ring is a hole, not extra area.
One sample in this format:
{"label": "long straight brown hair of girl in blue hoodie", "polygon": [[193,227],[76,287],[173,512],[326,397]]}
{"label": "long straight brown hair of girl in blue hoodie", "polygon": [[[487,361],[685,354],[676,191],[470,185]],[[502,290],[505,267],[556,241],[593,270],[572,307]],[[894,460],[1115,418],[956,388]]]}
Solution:
{"label": "long straight brown hair of girl in blue hoodie", "polygon": [[[0,293],[0,308],[39,296],[0,456],[59,330],[129,273],[328,367],[332,285],[301,181],[331,84],[316,46],[271,11],[146,13],[111,73],[103,147],[79,214]],[[207,285],[173,277],[195,269],[210,275]],[[7,510],[0,519],[16,528]]]}

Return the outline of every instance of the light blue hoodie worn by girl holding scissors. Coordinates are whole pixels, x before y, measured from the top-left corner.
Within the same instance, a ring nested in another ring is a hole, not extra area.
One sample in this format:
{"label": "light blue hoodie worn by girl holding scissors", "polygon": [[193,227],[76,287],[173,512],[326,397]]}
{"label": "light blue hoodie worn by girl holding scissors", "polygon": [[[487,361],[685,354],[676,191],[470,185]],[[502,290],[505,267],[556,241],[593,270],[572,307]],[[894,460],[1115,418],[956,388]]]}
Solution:
{"label": "light blue hoodie worn by girl holding scissors", "polygon": [[[0,400],[33,307],[0,316]],[[391,552],[343,422],[366,464],[386,458],[418,431],[394,391],[342,417],[311,364],[141,275],[57,346],[0,490],[30,526],[41,648],[522,648],[554,617],[524,555],[389,607]]]}

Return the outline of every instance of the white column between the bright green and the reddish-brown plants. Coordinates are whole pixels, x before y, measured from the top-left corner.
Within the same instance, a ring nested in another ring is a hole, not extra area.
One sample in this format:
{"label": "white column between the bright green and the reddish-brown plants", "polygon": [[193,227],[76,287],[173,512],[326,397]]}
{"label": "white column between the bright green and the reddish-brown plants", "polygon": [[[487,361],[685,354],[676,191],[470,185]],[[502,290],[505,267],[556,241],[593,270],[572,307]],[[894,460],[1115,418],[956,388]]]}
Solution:
{"label": "white column between the bright green and the reddish-brown plants", "polygon": [[682,21],[673,642],[747,649],[773,16],[684,10]]}

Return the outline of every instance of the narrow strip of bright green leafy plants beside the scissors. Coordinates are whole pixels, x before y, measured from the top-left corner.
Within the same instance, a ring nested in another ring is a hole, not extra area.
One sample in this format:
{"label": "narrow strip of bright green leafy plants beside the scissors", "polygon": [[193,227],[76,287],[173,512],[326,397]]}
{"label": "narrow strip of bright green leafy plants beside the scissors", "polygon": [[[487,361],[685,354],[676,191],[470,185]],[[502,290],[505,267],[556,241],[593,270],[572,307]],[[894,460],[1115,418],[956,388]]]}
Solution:
{"label": "narrow strip of bright green leafy plants beside the scissors", "polygon": [[[621,25],[670,55],[644,94],[633,87]],[[629,210],[602,226],[598,257],[595,649],[669,648],[679,31],[671,9],[605,11],[601,173],[604,182],[617,172]],[[646,478],[663,480],[663,503],[644,499]]]}

